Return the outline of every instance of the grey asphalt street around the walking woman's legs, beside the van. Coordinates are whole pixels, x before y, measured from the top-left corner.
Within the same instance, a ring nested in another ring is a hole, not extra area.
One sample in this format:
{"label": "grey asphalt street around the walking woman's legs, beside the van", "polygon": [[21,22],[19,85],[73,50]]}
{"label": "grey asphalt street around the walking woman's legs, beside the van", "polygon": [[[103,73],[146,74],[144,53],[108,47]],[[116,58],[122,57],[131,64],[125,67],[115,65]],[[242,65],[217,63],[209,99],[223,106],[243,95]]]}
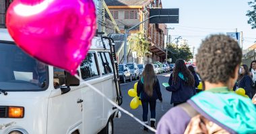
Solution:
{"label": "grey asphalt street around the walking woman's legs, beside the van", "polygon": [[[160,118],[162,117],[162,115],[164,115],[164,113],[166,113],[172,107],[170,105],[171,93],[165,90],[164,86],[162,86],[163,82],[168,82],[169,76],[170,76],[170,72],[158,75],[158,80],[161,86],[163,102],[160,103],[160,101],[157,100],[157,103],[156,103],[156,125],[160,120]],[[130,88],[133,88],[133,85],[135,84],[135,82],[136,81],[127,82],[125,84],[121,83],[121,90],[123,94],[123,104],[121,105],[121,107],[123,107],[125,110],[129,111],[135,117],[137,117],[142,121],[142,107],[139,106],[137,109],[133,110],[129,106],[132,97],[130,97],[127,92]],[[148,121],[150,123],[150,109],[148,113]],[[143,132],[143,126],[141,124],[137,123],[137,121],[135,121],[129,115],[122,113],[122,117],[120,119],[118,118],[114,119],[114,133],[128,134],[128,133],[153,133],[153,132],[151,131]]]}

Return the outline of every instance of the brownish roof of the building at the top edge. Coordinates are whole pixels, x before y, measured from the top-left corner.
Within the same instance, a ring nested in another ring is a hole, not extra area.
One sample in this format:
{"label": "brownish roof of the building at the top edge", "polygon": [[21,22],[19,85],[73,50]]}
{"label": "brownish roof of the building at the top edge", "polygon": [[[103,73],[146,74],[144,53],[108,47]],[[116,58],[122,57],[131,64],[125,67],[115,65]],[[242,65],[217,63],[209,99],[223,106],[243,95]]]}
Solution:
{"label": "brownish roof of the building at the top edge", "polygon": [[132,5],[146,5],[152,0],[105,0],[108,6],[132,6]]}

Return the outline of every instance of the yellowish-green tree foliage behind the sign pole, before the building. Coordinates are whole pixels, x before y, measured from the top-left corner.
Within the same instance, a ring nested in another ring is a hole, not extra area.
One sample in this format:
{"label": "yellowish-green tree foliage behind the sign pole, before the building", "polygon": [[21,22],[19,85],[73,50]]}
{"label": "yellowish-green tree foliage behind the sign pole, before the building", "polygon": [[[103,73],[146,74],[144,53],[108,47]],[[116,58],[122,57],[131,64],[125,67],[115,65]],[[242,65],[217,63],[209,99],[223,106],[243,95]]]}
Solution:
{"label": "yellowish-green tree foliage behind the sign pole, before the building", "polygon": [[148,52],[150,42],[148,42],[143,33],[133,34],[128,42],[130,49],[137,52],[138,57],[142,58]]}

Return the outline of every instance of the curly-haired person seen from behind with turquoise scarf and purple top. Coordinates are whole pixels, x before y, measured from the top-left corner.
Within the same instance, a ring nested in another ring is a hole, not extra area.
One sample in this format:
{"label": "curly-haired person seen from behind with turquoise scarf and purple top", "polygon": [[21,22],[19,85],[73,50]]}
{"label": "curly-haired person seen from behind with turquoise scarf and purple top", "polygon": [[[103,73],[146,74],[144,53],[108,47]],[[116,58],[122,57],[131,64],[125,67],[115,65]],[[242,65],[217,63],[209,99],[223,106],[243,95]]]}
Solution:
{"label": "curly-haired person seen from behind with turquoise scarf and purple top", "polygon": [[203,92],[170,109],[157,133],[256,133],[256,107],[235,92],[242,50],[225,35],[205,38],[197,50],[197,68]]}

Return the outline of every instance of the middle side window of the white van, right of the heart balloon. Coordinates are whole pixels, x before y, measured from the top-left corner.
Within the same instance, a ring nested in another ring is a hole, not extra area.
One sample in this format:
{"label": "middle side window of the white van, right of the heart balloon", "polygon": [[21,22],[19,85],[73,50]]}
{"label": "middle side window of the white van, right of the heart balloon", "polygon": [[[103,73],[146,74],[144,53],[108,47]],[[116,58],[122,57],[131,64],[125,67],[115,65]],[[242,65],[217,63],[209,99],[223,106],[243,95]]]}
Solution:
{"label": "middle side window of the white van, right of the heart balloon", "polygon": [[95,53],[88,53],[80,65],[82,79],[99,76]]}

